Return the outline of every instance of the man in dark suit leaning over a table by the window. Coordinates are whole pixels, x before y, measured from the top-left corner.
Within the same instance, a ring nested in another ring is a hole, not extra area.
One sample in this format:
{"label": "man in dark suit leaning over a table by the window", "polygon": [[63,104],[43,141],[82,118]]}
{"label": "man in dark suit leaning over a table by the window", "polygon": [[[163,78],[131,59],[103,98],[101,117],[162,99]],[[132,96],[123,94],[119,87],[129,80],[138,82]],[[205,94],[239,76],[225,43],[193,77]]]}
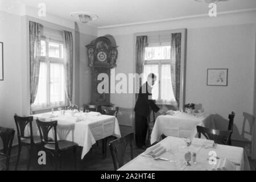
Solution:
{"label": "man in dark suit leaning over a table by the window", "polygon": [[135,111],[135,141],[138,148],[146,148],[147,135],[147,117],[150,115],[150,109],[155,113],[163,114],[164,111],[159,109],[152,100],[152,86],[155,84],[156,75],[150,73],[147,81],[139,89],[138,98],[134,107]]}

